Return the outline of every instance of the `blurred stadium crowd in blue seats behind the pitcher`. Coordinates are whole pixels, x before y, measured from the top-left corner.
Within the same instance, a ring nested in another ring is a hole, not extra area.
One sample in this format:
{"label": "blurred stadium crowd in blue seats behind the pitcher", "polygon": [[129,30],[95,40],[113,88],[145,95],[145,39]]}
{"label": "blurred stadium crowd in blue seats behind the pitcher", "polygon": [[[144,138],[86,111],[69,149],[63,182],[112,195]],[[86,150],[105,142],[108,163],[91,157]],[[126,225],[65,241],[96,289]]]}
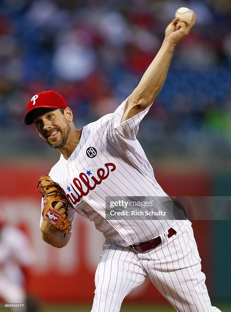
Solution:
{"label": "blurred stadium crowd in blue seats behind the pitcher", "polygon": [[45,149],[22,121],[28,100],[38,92],[61,93],[79,129],[114,111],[138,84],[174,12],[184,6],[197,14],[197,24],[177,47],[139,139],[157,160],[183,155],[227,164],[229,0],[2,0],[0,134],[5,149],[0,156]]}

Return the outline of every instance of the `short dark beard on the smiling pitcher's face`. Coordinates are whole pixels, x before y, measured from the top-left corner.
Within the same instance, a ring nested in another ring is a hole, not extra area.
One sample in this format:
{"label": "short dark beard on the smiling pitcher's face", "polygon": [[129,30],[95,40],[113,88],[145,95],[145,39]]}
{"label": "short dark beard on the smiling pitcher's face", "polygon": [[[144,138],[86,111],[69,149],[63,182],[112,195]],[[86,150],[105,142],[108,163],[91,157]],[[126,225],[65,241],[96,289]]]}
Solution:
{"label": "short dark beard on the smiling pitcher's face", "polygon": [[[47,144],[49,144],[50,147],[52,147],[52,149],[61,149],[66,145],[66,141],[70,137],[71,127],[70,127],[70,124],[67,120],[65,120],[65,123],[66,123],[66,126],[62,130],[54,128],[45,134],[45,138],[43,138],[43,140]],[[61,138],[58,140],[55,137],[55,138],[50,138],[48,140],[47,137],[49,136],[49,134],[51,134],[52,132],[54,132],[56,130],[60,131]]]}

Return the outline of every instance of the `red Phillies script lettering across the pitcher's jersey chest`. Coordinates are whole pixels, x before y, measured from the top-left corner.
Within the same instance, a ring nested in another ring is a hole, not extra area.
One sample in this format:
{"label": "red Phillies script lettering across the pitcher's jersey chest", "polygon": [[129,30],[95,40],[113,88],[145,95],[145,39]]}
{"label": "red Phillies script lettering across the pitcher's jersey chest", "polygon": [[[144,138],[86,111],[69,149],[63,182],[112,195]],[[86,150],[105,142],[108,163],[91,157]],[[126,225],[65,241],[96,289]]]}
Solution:
{"label": "red Phillies script lettering across the pitcher's jersey chest", "polygon": [[70,203],[76,205],[81,202],[83,196],[86,196],[89,191],[93,191],[97,185],[100,185],[104,180],[109,177],[109,174],[115,171],[116,166],[114,163],[104,163],[102,167],[98,167],[96,172],[93,173],[90,170],[86,172],[80,172],[78,178],[73,179],[73,183],[71,183],[72,190],[75,191],[75,195],[73,193],[66,194],[66,198]]}

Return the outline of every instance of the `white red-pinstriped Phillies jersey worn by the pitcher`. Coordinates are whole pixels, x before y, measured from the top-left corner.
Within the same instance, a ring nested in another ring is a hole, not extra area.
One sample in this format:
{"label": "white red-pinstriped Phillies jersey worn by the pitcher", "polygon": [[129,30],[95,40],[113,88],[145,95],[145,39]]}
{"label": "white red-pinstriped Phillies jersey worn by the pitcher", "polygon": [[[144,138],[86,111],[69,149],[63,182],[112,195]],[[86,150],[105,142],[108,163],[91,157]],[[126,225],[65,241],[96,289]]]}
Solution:
{"label": "white red-pinstriped Phillies jersey worn by the pitcher", "polygon": [[[156,182],[153,168],[136,139],[139,123],[150,107],[121,123],[125,104],[126,100],[114,113],[83,127],[71,156],[66,160],[61,155],[49,173],[71,203],[72,224],[78,212],[95,223],[106,241],[121,246],[159,236],[173,223],[172,220],[106,220],[106,196],[167,196]],[[97,153],[92,158],[86,153],[89,148]]]}

